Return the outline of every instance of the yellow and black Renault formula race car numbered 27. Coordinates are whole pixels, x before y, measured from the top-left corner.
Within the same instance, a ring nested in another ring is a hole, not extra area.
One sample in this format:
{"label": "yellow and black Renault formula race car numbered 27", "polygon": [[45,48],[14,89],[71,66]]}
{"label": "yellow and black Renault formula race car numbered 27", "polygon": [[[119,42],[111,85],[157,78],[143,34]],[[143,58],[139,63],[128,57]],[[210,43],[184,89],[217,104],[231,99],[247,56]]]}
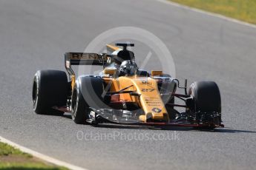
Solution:
{"label": "yellow and black Renault formula race car numbered 27", "polygon": [[[185,86],[180,86],[180,81],[163,71],[139,69],[134,52],[127,47],[134,44],[107,44],[108,53],[102,54],[66,52],[69,78],[59,70],[37,71],[33,78],[33,110],[41,115],[70,112],[79,124],[223,127],[216,83],[198,81],[187,90],[186,80]],[[73,65],[100,65],[103,69],[98,75],[76,78]],[[178,94],[176,89],[185,92]],[[184,104],[174,103],[174,98]]]}

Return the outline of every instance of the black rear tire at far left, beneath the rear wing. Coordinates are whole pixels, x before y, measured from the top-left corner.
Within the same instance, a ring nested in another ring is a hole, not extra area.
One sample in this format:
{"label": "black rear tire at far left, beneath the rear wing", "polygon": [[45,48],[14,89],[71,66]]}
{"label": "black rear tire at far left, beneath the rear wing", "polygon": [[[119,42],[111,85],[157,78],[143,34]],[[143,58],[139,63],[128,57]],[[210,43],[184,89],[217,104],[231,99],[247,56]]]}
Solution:
{"label": "black rear tire at far left, beneath the rear wing", "polygon": [[33,110],[40,115],[62,115],[53,106],[66,106],[68,78],[59,70],[39,70],[33,78]]}

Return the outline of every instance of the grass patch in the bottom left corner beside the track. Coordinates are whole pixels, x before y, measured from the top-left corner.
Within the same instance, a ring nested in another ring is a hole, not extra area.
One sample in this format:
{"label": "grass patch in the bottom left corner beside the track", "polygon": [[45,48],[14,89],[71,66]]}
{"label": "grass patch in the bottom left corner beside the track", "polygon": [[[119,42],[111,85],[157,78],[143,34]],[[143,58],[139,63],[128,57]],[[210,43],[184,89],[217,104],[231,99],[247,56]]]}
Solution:
{"label": "grass patch in the bottom left corner beside the track", "polygon": [[21,152],[6,143],[0,142],[0,170],[67,170],[60,166],[45,163],[31,154]]}

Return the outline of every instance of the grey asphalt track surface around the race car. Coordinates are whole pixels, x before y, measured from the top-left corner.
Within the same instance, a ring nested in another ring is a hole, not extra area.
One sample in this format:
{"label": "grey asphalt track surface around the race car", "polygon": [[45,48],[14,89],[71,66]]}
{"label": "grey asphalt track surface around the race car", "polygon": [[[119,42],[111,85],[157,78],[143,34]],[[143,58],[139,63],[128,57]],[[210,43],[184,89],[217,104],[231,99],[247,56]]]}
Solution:
{"label": "grey asphalt track surface around the race car", "polygon": [[[171,50],[177,78],[216,81],[226,128],[93,127],[76,125],[68,114],[36,115],[31,106],[36,70],[64,70],[64,52],[83,51],[96,35],[120,26],[157,35]],[[0,29],[2,137],[87,169],[255,169],[255,28],[159,1],[1,0]],[[175,130],[176,140],[77,138],[77,132],[167,137]]]}

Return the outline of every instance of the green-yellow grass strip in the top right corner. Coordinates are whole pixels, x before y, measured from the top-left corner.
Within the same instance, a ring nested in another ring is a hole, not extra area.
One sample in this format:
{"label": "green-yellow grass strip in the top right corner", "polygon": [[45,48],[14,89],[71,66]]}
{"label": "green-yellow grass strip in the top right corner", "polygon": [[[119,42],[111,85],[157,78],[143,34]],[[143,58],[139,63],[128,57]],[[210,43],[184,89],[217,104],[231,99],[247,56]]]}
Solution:
{"label": "green-yellow grass strip in the top right corner", "polygon": [[256,24],[256,0],[171,0]]}

